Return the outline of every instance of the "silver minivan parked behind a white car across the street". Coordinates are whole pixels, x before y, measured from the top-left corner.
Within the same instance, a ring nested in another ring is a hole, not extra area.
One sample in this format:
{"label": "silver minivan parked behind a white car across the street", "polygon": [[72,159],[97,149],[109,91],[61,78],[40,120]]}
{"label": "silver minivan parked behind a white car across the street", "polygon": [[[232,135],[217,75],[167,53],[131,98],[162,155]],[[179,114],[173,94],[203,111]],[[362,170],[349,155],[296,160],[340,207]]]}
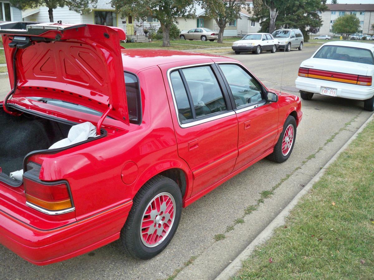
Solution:
{"label": "silver minivan parked behind a white car across the street", "polygon": [[304,36],[300,29],[278,29],[272,35],[279,41],[278,49],[285,49],[286,52],[291,49],[303,49]]}

